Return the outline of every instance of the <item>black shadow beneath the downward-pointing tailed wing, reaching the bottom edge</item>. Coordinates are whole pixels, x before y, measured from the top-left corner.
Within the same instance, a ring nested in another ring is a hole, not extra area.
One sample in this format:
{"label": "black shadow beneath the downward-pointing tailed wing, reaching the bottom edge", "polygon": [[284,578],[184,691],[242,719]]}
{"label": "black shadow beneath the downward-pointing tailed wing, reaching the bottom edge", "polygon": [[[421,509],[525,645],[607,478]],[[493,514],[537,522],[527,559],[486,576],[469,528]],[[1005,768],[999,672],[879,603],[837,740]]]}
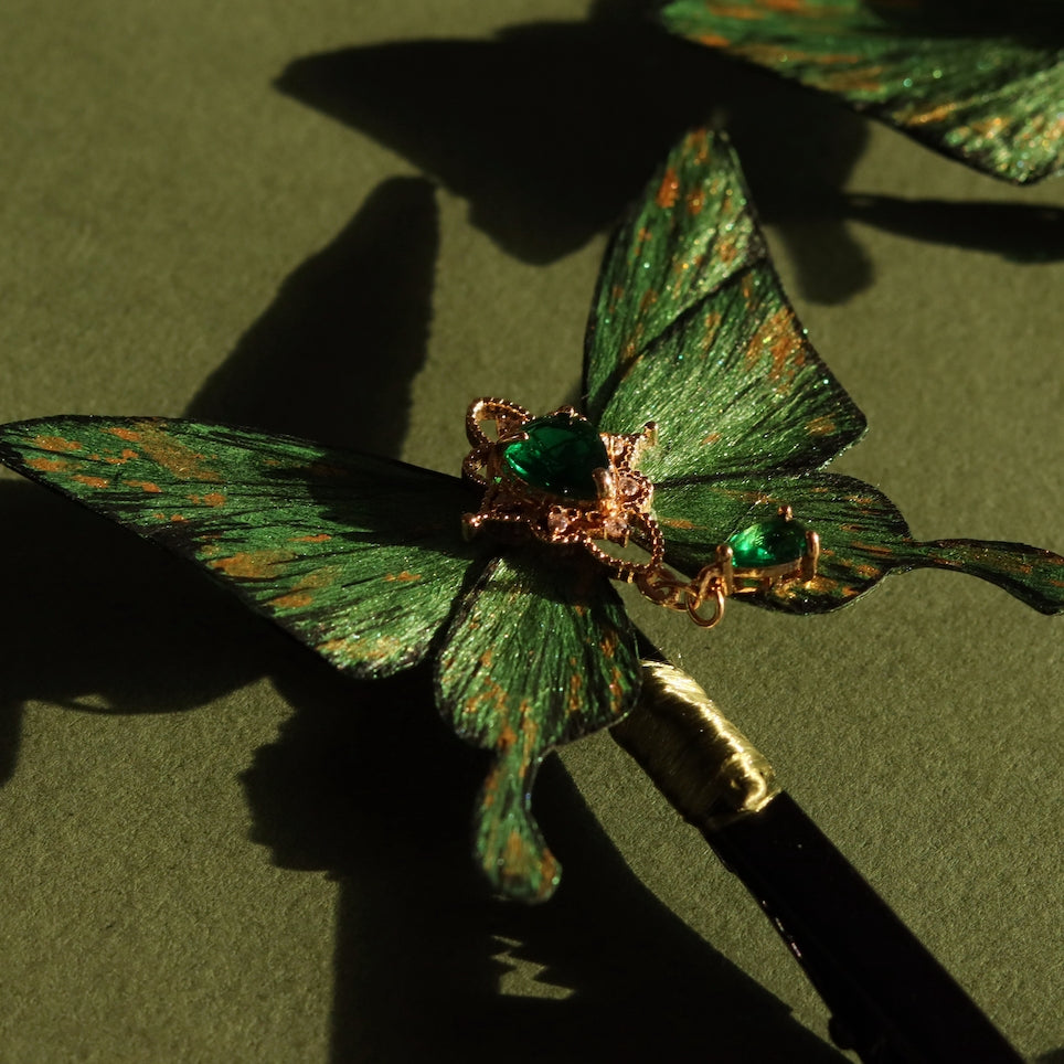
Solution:
{"label": "black shadow beneath the downward-pointing tailed wing, reaching the bottom edge", "polygon": [[653,897],[557,758],[536,813],[563,884],[491,900],[470,860],[486,757],[427,668],[354,683],[315,662],[280,685],[296,713],[244,784],[275,863],[340,883],[332,1061],[843,1058]]}

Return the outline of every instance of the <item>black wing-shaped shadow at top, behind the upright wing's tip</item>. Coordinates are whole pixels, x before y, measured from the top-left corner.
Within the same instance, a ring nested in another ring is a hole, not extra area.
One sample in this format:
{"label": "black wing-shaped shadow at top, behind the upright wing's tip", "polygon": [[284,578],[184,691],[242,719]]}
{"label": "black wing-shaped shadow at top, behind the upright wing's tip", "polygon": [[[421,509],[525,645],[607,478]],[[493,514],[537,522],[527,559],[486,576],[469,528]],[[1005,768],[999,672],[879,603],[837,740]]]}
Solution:
{"label": "black wing-shaped shadow at top, behind the upright wing's tip", "polygon": [[864,121],[670,36],[645,8],[602,0],[584,23],[305,56],[276,85],[433,174],[475,226],[536,264],[606,230],[683,130],[723,123],[804,294],[838,302],[869,285],[870,262],[832,216]]}

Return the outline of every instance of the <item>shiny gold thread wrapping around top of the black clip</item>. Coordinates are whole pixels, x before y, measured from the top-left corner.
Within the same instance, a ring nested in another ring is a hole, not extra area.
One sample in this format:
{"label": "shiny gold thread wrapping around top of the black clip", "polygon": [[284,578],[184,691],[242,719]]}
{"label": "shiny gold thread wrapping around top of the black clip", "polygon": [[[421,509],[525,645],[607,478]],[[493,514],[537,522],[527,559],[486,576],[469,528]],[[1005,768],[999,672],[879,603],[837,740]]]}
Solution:
{"label": "shiny gold thread wrapping around top of the black clip", "polygon": [[772,765],[682,669],[643,660],[636,707],[610,732],[683,818],[703,830],[780,792]]}

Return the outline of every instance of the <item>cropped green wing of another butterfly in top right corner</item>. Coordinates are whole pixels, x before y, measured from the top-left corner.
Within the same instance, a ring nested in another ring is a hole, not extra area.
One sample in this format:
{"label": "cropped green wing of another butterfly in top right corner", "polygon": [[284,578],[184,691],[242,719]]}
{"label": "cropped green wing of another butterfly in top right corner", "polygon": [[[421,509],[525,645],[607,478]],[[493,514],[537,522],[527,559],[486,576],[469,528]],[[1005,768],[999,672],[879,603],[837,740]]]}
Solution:
{"label": "cropped green wing of another butterfly in top right corner", "polygon": [[1058,0],[671,0],[661,19],[996,177],[1064,169]]}

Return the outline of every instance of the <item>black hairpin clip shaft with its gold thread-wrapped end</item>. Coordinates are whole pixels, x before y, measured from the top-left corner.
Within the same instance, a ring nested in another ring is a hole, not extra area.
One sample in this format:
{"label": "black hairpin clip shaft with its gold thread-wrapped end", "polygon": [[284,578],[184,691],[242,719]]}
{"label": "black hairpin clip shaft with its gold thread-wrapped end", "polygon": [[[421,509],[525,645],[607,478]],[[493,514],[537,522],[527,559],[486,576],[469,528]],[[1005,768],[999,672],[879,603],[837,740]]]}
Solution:
{"label": "black hairpin clip shaft with its gold thread-wrapped end", "polygon": [[645,661],[610,731],[754,895],[865,1064],[1021,1057],[687,673]]}

